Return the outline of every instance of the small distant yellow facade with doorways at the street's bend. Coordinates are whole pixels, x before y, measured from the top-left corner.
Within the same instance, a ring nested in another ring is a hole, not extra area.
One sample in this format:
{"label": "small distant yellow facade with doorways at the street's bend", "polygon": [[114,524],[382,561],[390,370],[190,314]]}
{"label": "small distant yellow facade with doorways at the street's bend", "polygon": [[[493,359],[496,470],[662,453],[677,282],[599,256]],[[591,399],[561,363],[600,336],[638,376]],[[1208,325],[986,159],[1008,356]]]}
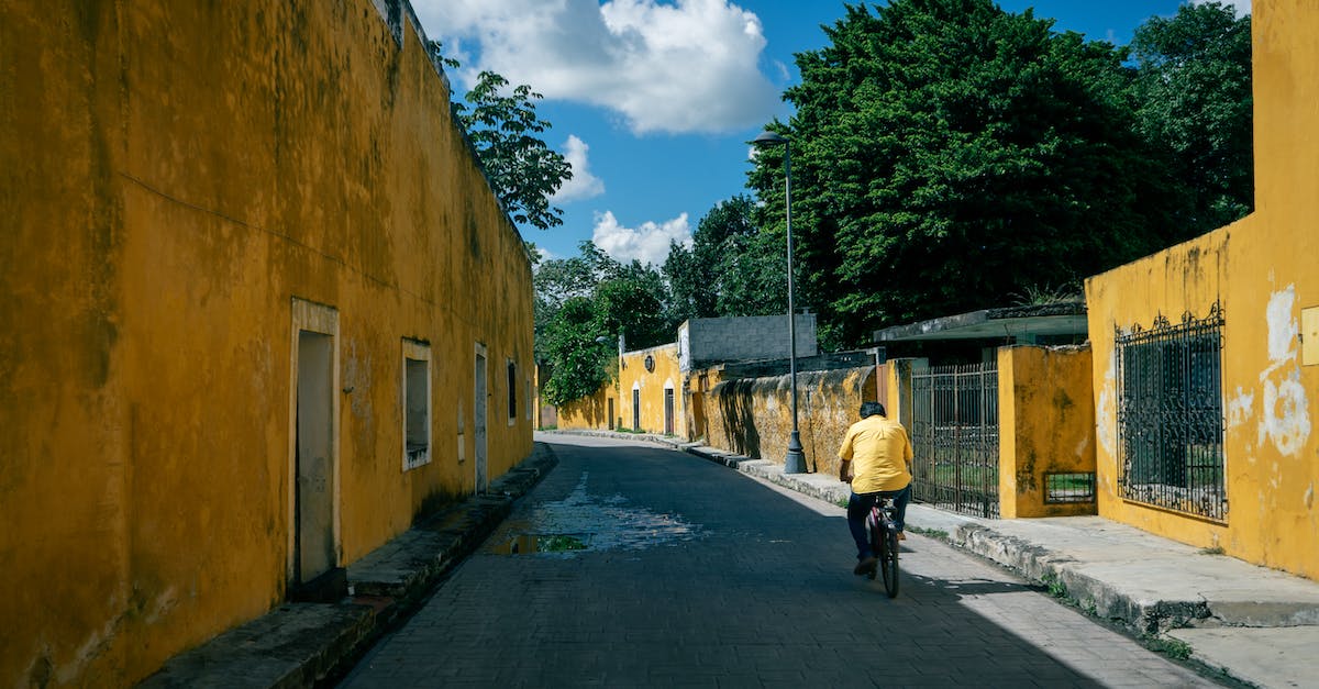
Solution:
{"label": "small distant yellow facade with doorways at the street's bend", "polygon": [[[654,362],[653,371],[646,371],[646,356]],[[683,375],[678,367],[678,343],[623,352],[619,370],[619,393],[623,403],[619,407],[619,417],[623,418],[623,428],[646,433],[665,433],[665,388],[673,389],[673,434],[685,437],[687,409],[682,393]],[[641,405],[637,417],[641,421],[640,425],[633,422],[633,389],[640,392]]]}

